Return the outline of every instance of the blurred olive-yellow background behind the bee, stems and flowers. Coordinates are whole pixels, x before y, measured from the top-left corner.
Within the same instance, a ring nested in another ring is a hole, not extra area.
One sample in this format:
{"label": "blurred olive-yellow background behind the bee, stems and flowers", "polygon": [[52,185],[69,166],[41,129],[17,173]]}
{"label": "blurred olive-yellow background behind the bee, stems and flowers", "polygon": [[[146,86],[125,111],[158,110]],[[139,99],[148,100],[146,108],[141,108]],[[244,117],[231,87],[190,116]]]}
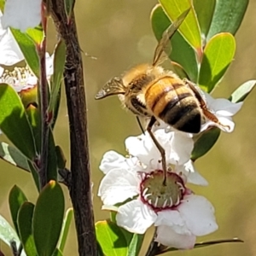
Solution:
{"label": "blurred olive-yellow background behind the bee, stems and flowers", "polygon": [[[136,136],[140,130],[134,116],[120,107],[117,97],[95,101],[94,96],[114,75],[123,73],[137,63],[152,60],[156,40],[149,15],[156,3],[156,0],[86,0],[76,3],[80,47],[84,55],[96,220],[109,216],[108,212],[101,210],[102,202],[97,197],[97,188],[102,179],[102,172],[98,169],[102,154],[110,149],[125,154],[125,137]],[[252,0],[236,33],[235,60],[213,96],[228,97],[240,84],[256,77],[255,8],[256,1]],[[49,51],[52,51],[56,41],[52,24],[49,25],[48,39]],[[63,148],[69,166],[68,117],[65,93],[62,91],[55,142]],[[236,130],[232,134],[222,133],[212,150],[196,163],[198,171],[207,178],[209,186],[190,186],[196,194],[204,195],[212,202],[219,225],[215,233],[199,237],[198,241],[239,237],[245,242],[179,251],[170,255],[256,255],[255,106],[256,91],[253,91],[235,117]],[[6,138],[2,135],[1,140]],[[36,201],[38,194],[32,177],[1,160],[0,213],[9,220],[8,194],[14,184],[20,186],[31,201]],[[67,188],[62,188],[66,195],[66,206],[71,207]],[[6,256],[11,255],[3,242],[0,247],[8,252]],[[64,254],[78,255],[74,224]]]}

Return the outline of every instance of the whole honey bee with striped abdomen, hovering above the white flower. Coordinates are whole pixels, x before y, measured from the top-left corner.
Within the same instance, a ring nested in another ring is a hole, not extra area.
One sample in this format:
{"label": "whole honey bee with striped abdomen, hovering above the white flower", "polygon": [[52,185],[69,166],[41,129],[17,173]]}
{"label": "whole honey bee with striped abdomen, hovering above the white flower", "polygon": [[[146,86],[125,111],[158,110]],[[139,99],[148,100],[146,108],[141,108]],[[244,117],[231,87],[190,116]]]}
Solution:
{"label": "whole honey bee with striped abdomen, hovering above the white flower", "polygon": [[217,117],[207,109],[207,104],[196,85],[188,79],[180,79],[176,73],[160,67],[160,57],[166,45],[182,24],[189,10],[183,12],[163,33],[154,51],[152,64],[133,67],[122,77],[114,77],[96,94],[96,100],[118,95],[125,108],[137,117],[150,118],[147,131],[162,158],[166,183],[165,150],[154,137],[152,127],[158,119],[177,131],[198,133],[205,118],[218,123]]}

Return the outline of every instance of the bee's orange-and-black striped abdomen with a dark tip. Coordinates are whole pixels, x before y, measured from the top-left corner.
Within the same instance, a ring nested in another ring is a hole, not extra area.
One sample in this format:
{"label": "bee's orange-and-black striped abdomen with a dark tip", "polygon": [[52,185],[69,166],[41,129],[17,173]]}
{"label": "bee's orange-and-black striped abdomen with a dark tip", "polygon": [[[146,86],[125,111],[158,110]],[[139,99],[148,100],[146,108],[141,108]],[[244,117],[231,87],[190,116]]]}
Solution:
{"label": "bee's orange-and-black striped abdomen with a dark tip", "polygon": [[154,116],[178,131],[198,133],[201,130],[200,104],[183,80],[172,77],[154,80],[145,91],[145,101]]}

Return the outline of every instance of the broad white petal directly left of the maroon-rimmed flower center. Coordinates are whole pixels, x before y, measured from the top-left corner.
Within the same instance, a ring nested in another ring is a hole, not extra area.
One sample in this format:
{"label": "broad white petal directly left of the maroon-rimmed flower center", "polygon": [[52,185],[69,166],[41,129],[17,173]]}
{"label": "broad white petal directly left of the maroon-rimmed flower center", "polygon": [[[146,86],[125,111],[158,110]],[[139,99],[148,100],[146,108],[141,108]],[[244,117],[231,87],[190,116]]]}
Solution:
{"label": "broad white petal directly left of the maroon-rimmed flower center", "polygon": [[104,205],[115,205],[139,194],[138,177],[133,172],[113,169],[102,178],[98,195]]}

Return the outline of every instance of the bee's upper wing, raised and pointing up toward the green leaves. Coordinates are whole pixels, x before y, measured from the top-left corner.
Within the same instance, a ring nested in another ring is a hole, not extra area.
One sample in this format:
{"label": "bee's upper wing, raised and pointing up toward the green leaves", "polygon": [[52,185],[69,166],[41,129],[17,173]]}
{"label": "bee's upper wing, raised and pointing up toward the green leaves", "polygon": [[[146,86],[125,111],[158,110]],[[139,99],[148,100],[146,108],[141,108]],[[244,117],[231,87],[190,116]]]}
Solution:
{"label": "bee's upper wing, raised and pointing up toward the green leaves", "polygon": [[[174,33],[177,31],[178,27],[181,26],[183,23],[183,20],[185,20],[186,16],[189,14],[190,8],[185,10],[181,15],[177,17],[177,20],[174,20],[172,25],[169,26],[165,32],[163,32],[162,38],[160,39],[159,44],[157,44],[156,49],[154,51],[154,59],[153,59],[153,66],[158,64],[158,61],[160,60],[160,56],[163,54],[163,52],[166,50],[166,45],[169,43],[170,39],[174,35]],[[168,49],[168,51],[172,50]]]}

